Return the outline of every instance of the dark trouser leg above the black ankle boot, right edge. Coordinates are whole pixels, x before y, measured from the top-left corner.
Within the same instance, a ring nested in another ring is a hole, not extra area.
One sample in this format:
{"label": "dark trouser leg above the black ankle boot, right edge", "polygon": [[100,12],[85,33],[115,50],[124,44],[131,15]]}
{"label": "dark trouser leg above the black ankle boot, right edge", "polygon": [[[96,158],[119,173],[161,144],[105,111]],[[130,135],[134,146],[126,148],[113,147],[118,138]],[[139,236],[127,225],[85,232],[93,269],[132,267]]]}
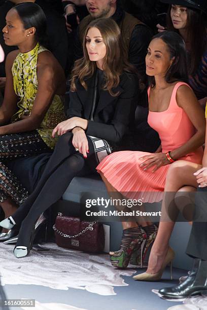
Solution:
{"label": "dark trouser leg above the black ankle boot, right edge", "polygon": [[195,214],[186,254],[207,260],[207,187],[198,187]]}

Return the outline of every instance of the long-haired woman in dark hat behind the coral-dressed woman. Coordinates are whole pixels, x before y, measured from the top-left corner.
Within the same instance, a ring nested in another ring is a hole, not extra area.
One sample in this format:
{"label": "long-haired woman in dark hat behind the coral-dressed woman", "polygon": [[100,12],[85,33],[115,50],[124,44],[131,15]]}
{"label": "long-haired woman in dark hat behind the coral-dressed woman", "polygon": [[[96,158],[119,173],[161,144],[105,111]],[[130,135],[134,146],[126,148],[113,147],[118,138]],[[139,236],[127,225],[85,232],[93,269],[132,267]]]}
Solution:
{"label": "long-haired woman in dark hat behind the coral-dressed woman", "polygon": [[[170,5],[167,13],[167,30],[176,31],[185,41],[189,85],[204,108],[207,100],[207,0],[160,1]],[[158,31],[163,30],[165,28],[158,25]]]}

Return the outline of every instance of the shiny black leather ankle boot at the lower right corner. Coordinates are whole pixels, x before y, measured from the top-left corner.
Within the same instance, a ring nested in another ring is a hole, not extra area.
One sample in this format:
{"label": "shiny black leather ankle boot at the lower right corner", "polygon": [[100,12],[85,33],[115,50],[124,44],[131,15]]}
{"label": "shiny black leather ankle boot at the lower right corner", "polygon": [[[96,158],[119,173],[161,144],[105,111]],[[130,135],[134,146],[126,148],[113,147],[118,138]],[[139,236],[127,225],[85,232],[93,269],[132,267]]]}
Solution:
{"label": "shiny black leather ankle boot at the lower right corner", "polygon": [[207,261],[195,258],[188,278],[180,285],[159,290],[164,297],[184,298],[207,292]]}

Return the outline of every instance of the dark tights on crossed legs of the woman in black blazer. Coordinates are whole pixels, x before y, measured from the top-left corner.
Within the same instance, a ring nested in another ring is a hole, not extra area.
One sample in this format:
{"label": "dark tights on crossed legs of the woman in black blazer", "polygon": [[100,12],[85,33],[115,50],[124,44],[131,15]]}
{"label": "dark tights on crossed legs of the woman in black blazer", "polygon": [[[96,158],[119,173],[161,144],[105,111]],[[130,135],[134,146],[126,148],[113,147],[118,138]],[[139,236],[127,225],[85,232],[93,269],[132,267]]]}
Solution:
{"label": "dark tights on crossed legs of the woman in black blazer", "polygon": [[75,176],[83,170],[85,170],[85,174],[95,171],[97,163],[94,160],[94,149],[90,138],[88,138],[87,159],[84,159],[82,154],[75,150],[72,138],[71,133],[66,133],[58,139],[37,187],[12,215],[16,224],[21,224],[17,246],[29,246],[31,231],[38,217],[62,197],[68,184]]}

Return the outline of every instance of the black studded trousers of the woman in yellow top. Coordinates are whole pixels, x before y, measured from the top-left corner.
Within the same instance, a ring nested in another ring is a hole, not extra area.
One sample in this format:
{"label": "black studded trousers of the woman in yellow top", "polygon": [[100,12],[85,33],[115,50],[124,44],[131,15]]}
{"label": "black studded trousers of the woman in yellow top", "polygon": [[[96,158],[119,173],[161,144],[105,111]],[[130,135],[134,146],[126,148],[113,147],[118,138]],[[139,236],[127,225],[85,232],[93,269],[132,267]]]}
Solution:
{"label": "black studded trousers of the woman in yellow top", "polygon": [[51,151],[38,131],[0,136],[0,202],[10,197],[17,204],[27,199],[28,192],[7,168],[7,162]]}

